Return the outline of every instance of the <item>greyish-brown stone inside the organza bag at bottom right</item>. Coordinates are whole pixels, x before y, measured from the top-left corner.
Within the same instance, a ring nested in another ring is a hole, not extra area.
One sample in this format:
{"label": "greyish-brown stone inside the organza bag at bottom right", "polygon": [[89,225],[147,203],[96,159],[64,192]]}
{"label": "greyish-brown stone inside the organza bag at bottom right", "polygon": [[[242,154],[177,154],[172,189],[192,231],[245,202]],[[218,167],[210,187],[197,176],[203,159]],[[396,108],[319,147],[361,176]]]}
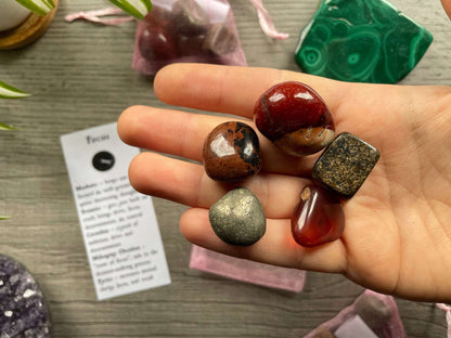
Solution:
{"label": "greyish-brown stone inside the organza bag at bottom right", "polygon": [[379,330],[390,317],[390,308],[379,298],[363,294],[355,304],[355,313],[372,329]]}

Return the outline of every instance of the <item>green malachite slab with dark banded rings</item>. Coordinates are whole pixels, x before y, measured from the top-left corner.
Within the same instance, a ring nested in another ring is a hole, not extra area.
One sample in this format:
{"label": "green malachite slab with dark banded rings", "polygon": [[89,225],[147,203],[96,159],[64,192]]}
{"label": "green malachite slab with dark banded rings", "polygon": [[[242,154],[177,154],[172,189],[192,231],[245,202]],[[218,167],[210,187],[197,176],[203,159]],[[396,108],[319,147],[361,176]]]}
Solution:
{"label": "green malachite slab with dark banded rings", "polygon": [[302,29],[296,62],[309,74],[396,83],[433,42],[431,34],[384,0],[321,0]]}

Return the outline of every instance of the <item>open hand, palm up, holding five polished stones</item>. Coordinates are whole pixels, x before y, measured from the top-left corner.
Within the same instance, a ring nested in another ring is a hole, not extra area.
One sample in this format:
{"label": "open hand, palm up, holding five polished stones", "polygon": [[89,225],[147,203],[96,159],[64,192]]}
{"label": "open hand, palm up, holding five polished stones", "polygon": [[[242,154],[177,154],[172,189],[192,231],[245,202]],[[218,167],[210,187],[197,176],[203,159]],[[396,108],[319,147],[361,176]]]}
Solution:
{"label": "open hand, palm up, holding five polished stones", "polygon": [[[377,147],[381,159],[344,205],[346,227],[333,243],[297,245],[291,217],[318,155],[284,155],[259,134],[261,171],[244,182],[260,199],[267,233],[249,247],[214,233],[208,208],[228,186],[209,179],[199,161],[206,135],[220,122],[252,122],[259,95],[295,80],[313,88],[349,131]],[[176,64],[160,70],[156,95],[168,104],[235,115],[192,114],[133,106],[118,120],[130,145],[151,150],[130,165],[141,193],[191,207],[181,220],[192,243],[227,255],[282,266],[343,273],[379,292],[451,301],[451,88],[348,83],[268,68]],[[176,155],[190,161],[167,157]]]}

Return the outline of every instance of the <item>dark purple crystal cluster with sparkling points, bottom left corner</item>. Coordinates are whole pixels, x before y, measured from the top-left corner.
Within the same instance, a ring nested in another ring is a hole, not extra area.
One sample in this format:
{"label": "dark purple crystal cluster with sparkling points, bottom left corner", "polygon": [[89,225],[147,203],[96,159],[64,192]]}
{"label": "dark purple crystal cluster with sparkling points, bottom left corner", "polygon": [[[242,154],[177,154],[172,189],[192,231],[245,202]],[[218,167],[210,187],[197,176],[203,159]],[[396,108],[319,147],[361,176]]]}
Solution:
{"label": "dark purple crystal cluster with sparkling points, bottom left corner", "polygon": [[39,285],[21,263],[3,255],[0,309],[0,337],[51,337],[49,310]]}

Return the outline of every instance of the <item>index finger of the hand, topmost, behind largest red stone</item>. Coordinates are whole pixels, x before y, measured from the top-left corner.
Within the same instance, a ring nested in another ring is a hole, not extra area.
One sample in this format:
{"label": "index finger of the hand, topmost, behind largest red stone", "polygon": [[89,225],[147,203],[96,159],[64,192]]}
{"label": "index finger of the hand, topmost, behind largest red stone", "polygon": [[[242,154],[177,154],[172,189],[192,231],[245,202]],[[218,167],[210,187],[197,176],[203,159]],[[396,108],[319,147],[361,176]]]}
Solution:
{"label": "index finger of the hand, topmost, behind largest red stone", "polygon": [[252,118],[258,98],[287,80],[308,83],[332,110],[346,87],[345,82],[272,68],[172,64],[158,72],[154,90],[168,104]]}

